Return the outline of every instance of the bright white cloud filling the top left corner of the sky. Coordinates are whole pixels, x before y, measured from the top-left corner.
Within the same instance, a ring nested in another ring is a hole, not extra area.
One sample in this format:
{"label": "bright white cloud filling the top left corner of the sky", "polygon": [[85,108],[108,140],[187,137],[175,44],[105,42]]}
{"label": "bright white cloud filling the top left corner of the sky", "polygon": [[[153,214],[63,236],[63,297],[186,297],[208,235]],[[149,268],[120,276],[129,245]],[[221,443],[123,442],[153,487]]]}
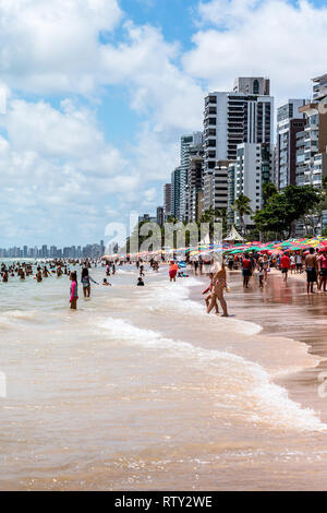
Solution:
{"label": "bright white cloud filling the top left corner of the sky", "polygon": [[121,17],[117,0],[2,0],[2,79],[33,93],[92,92],[99,34]]}

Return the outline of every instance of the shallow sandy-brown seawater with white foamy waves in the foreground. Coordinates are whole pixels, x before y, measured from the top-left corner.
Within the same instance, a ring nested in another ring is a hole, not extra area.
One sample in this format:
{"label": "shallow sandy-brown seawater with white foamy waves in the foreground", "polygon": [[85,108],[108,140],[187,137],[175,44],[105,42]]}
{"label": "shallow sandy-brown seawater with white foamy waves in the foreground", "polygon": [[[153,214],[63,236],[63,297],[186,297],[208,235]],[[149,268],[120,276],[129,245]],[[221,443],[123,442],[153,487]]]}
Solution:
{"label": "shallow sandy-brown seawater with white foamy waves in the foreground", "polygon": [[109,281],[76,312],[65,276],[0,284],[0,489],[326,486],[327,426],[276,382],[317,357],[258,315],[206,315],[194,277]]}

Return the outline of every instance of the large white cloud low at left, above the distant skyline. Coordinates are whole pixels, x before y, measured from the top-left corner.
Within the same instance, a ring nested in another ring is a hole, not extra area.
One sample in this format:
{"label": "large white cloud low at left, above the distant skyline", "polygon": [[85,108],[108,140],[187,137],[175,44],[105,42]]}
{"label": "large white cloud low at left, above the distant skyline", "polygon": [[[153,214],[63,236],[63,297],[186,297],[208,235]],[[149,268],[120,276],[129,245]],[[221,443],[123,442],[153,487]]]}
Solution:
{"label": "large white cloud low at left, above the distant skyline", "polygon": [[2,238],[16,225],[17,236],[43,236],[48,242],[59,226],[65,237],[66,231],[81,236],[86,220],[101,230],[108,199],[114,202],[114,194],[138,186],[138,177],[124,167],[125,159],[105,141],[86,108],[63,102],[58,110],[44,102],[13,99],[3,124],[8,139],[0,136],[0,202],[7,212]]}

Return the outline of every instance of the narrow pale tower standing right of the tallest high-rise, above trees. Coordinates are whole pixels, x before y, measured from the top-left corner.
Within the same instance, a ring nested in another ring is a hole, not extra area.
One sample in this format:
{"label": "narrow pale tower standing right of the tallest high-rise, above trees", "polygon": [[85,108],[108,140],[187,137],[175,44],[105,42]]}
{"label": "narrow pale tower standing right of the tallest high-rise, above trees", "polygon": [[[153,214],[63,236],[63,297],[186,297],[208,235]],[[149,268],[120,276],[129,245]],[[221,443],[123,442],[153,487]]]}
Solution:
{"label": "narrow pale tower standing right of the tallest high-rise, above trees", "polygon": [[299,109],[305,105],[305,99],[289,99],[277,110],[277,187],[283,190],[287,186],[296,183],[296,134],[303,132],[306,119]]}

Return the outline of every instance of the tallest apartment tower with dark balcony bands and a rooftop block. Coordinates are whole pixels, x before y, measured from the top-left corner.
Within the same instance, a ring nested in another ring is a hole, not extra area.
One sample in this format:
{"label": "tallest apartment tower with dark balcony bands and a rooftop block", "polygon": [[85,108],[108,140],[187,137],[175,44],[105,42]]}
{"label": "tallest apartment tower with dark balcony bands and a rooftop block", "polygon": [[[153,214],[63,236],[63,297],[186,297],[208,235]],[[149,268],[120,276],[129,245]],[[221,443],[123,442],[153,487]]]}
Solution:
{"label": "tallest apartment tower with dark balcony bands and a rooftop block", "polygon": [[274,98],[269,81],[237,79],[233,92],[210,93],[205,98],[205,172],[218,160],[237,160],[242,143],[272,144]]}

